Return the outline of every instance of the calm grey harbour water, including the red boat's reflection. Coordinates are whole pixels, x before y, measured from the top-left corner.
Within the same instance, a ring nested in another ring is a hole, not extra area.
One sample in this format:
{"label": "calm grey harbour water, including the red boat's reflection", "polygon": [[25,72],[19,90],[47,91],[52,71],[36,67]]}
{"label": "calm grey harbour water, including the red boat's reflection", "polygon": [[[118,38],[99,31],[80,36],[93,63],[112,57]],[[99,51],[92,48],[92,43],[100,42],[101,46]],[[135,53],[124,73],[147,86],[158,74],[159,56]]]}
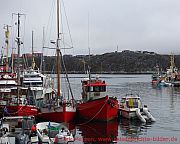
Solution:
{"label": "calm grey harbour water, including the red boat's reflection", "polygon": [[[93,75],[95,76],[95,75]],[[109,85],[111,96],[121,99],[127,93],[140,95],[156,122],[138,121],[90,122],[72,125],[75,143],[180,143],[180,88],[153,87],[151,75],[99,75]],[[81,80],[86,75],[69,75],[74,97],[80,99]],[[62,81],[66,89],[65,81]],[[65,90],[66,91],[66,90]],[[68,95],[68,94],[66,94]]]}

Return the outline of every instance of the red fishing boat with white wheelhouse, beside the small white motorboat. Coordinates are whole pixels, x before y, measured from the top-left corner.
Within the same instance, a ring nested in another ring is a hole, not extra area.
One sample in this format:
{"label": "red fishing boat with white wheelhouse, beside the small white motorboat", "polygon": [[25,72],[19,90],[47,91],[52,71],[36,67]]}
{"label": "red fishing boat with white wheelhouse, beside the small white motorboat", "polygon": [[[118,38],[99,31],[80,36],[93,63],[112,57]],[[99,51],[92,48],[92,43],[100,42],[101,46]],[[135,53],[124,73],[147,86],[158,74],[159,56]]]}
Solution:
{"label": "red fishing boat with white wheelhouse, beside the small white motorboat", "polygon": [[78,104],[78,115],[84,119],[109,121],[118,115],[118,100],[106,94],[105,81],[98,77],[82,80],[82,103]]}

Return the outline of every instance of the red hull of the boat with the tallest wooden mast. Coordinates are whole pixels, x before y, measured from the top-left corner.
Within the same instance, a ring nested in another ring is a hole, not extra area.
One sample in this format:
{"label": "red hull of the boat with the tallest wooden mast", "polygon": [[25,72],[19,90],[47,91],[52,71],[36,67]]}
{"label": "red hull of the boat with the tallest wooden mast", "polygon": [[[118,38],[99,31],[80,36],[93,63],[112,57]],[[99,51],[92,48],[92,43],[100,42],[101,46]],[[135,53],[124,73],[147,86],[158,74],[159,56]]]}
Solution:
{"label": "red hull of the boat with the tallest wooden mast", "polygon": [[68,108],[66,106],[59,110],[44,109],[37,115],[37,118],[51,121],[51,122],[70,122],[73,121],[76,116],[75,108]]}

